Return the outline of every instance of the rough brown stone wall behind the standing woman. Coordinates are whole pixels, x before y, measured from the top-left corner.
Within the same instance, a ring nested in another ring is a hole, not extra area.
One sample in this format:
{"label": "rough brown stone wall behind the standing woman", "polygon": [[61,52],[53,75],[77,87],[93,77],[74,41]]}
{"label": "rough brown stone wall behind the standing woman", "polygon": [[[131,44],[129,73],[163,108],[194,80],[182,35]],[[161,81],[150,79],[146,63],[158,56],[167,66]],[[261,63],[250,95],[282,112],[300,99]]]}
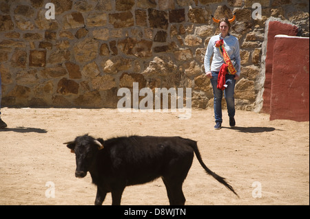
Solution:
{"label": "rough brown stone wall behind the standing woman", "polygon": [[[48,20],[47,3],[55,5]],[[253,19],[260,3],[262,18]],[[236,13],[242,72],[236,108],[255,108],[265,21],[289,20],[309,36],[309,1],[6,0],[0,1],[3,106],[115,108],[121,87],[190,87],[192,106],[213,106],[203,76],[218,19]],[[223,103],[224,104],[224,103]]]}

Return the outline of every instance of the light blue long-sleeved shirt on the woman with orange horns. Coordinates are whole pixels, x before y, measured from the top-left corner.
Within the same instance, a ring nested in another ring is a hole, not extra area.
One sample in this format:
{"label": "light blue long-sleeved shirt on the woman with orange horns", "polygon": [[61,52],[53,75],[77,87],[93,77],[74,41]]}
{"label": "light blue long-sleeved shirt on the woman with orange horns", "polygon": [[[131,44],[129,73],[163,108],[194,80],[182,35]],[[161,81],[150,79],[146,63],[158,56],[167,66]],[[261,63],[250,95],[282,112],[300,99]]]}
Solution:
{"label": "light blue long-sleeved shirt on the woman with orange horns", "polygon": [[[224,40],[224,46],[229,54],[230,60],[233,63],[237,75],[240,76],[240,47],[239,47],[239,41],[238,38],[235,36],[232,36],[231,34],[228,34],[225,36],[225,38],[222,38],[221,34],[218,34],[216,36],[212,36],[209,44],[207,46],[207,51],[205,53],[205,72],[208,71],[220,71],[220,67],[225,63],[223,56],[220,54],[220,49],[218,47],[215,47],[216,41],[223,39]],[[211,56],[213,56],[212,63],[211,63],[211,69],[210,69],[210,59]]]}

